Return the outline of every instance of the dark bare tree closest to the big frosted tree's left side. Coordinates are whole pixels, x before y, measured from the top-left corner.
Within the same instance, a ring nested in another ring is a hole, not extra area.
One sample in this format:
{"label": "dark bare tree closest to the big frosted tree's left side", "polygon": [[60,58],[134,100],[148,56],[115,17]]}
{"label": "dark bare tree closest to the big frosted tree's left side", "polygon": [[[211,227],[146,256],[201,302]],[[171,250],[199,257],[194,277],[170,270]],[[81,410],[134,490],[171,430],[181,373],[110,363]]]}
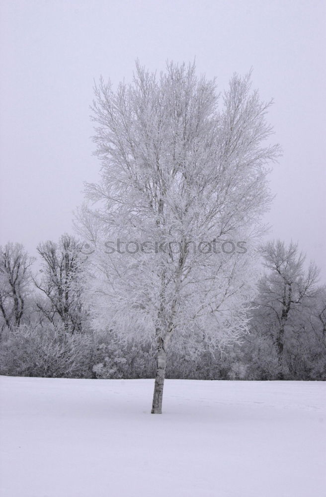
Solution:
{"label": "dark bare tree closest to the big frosted tree's left side", "polygon": [[81,243],[70,235],[63,235],[59,244],[48,241],[37,251],[42,258],[42,277],[36,287],[45,296],[36,301],[42,317],[51,323],[61,323],[65,331],[81,331],[85,313],[81,301],[81,272],[84,257]]}

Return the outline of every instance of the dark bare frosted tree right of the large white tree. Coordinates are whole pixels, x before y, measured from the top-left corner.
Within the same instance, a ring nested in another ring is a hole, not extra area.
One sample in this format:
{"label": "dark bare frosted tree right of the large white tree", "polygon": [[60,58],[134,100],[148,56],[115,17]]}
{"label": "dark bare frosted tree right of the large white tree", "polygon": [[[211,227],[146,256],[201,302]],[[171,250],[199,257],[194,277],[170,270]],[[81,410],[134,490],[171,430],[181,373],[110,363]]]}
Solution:
{"label": "dark bare frosted tree right of the large white tree", "polygon": [[285,329],[292,326],[298,330],[307,323],[305,313],[308,311],[311,315],[316,303],[319,270],[313,262],[305,270],[305,255],[299,253],[298,244],[292,242],[288,247],[280,240],[268,242],[261,248],[261,254],[268,273],[259,282],[257,304],[262,310],[265,327],[274,337],[278,378],[283,379]]}

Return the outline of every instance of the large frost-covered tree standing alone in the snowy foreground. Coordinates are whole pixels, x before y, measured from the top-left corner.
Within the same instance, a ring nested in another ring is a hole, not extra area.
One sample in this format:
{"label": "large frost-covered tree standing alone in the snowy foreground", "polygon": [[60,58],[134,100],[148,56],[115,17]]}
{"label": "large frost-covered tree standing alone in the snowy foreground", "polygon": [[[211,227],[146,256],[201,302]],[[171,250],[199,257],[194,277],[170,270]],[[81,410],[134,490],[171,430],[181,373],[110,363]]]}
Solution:
{"label": "large frost-covered tree standing alone in the snowy foreground", "polygon": [[96,248],[86,299],[97,327],[152,340],[152,413],[168,343],[194,355],[247,331],[267,164],[279,155],[263,144],[269,105],[250,75],[235,75],[220,106],[215,80],[194,65],[169,63],[158,77],[136,63],[132,84],[95,87],[101,178],[87,186],[96,210],[81,215]]}

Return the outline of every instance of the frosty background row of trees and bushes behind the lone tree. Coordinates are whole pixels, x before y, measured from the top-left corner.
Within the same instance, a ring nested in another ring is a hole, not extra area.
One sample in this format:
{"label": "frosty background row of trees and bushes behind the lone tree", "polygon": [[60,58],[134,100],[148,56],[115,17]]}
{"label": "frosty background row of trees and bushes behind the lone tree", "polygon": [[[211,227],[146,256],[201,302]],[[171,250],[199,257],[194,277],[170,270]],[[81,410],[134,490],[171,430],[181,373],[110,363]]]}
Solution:
{"label": "frosty background row of trees and bushes behind the lone tree", "polygon": [[[19,244],[0,248],[0,374],[62,378],[153,378],[151,343],[94,329],[83,299],[87,256],[64,235],[37,247],[42,267]],[[167,378],[325,380],[326,287],[296,244],[269,242],[243,343],[189,354],[170,345]],[[108,303],[109,305],[109,303]]]}

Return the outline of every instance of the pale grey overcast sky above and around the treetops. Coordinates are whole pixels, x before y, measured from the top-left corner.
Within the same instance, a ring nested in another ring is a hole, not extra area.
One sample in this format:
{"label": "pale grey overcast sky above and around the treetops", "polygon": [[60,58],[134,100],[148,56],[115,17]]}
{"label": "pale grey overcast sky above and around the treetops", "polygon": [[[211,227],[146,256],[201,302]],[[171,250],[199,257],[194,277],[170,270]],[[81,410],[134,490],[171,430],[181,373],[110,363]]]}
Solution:
{"label": "pale grey overcast sky above and around the treetops", "polygon": [[128,81],[137,57],[151,70],[196,57],[220,89],[252,66],[253,86],[274,98],[284,156],[270,176],[270,237],[299,241],[326,280],[324,1],[2,0],[0,18],[0,245],[35,254],[72,232],[100,166],[93,79]]}

